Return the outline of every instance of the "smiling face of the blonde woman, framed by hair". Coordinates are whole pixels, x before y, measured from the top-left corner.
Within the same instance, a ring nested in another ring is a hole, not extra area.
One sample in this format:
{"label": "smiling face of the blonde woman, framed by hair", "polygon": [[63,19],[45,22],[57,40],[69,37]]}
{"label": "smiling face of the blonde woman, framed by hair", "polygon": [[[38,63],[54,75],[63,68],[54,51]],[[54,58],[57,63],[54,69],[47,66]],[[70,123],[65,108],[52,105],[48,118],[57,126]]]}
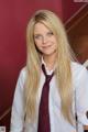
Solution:
{"label": "smiling face of the blonde woman, framed by hair", "polygon": [[53,32],[43,23],[36,23],[34,26],[34,42],[37,50],[45,56],[56,54],[57,42]]}

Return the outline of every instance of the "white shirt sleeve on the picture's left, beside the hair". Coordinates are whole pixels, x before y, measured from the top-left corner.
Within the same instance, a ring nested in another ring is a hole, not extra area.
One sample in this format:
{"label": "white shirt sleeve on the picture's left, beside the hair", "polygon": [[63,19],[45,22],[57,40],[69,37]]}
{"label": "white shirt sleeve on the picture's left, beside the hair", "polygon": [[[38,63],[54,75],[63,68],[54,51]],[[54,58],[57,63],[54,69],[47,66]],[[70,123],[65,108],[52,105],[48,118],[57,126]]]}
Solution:
{"label": "white shirt sleeve on the picture's left, beside the hair", "polygon": [[24,124],[23,89],[24,89],[24,79],[25,79],[24,74],[25,70],[22,69],[14,91],[10,132],[23,131],[23,124]]}

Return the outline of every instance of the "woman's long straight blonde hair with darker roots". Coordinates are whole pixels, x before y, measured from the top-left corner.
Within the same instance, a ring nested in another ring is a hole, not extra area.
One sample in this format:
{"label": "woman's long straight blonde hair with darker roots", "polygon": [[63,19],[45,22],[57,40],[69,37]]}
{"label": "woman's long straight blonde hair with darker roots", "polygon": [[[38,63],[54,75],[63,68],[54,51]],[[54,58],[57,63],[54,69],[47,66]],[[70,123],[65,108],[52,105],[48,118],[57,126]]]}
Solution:
{"label": "woman's long straight blonde hair with darker roots", "polygon": [[36,11],[31,18],[26,28],[26,68],[28,76],[25,82],[25,113],[26,118],[34,120],[36,111],[36,98],[40,82],[41,54],[36,50],[33,38],[34,25],[41,22],[53,31],[57,40],[57,67],[55,76],[61,95],[62,113],[64,118],[72,123],[72,69],[70,62],[73,59],[70,46],[66,36],[65,28],[61,19],[48,10]]}

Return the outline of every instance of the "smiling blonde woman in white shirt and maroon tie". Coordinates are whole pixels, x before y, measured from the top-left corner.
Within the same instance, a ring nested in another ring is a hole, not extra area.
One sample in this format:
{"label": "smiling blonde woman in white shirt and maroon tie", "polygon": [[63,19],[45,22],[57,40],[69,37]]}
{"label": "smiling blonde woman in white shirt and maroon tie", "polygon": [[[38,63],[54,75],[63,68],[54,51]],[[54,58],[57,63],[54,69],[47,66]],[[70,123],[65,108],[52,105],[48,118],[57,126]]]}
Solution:
{"label": "smiling blonde woman in white shirt and maroon tie", "polygon": [[[26,66],[15,88],[10,132],[87,130],[88,72],[73,59],[64,25],[55,13],[35,12],[26,29]],[[52,75],[50,84],[44,70]]]}

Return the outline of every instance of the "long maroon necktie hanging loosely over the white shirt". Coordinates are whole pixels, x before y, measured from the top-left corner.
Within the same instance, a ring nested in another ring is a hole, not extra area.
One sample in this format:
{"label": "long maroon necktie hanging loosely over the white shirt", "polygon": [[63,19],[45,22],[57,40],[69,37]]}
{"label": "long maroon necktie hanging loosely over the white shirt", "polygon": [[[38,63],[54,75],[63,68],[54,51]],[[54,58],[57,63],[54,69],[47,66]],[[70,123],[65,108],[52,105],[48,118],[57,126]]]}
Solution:
{"label": "long maroon necktie hanging loosely over the white shirt", "polygon": [[46,75],[44,65],[42,65],[42,70],[45,75],[45,82],[42,90],[42,97],[38,110],[38,128],[37,132],[51,132],[50,127],[50,113],[48,113],[48,92],[50,92],[50,81],[54,75]]}

